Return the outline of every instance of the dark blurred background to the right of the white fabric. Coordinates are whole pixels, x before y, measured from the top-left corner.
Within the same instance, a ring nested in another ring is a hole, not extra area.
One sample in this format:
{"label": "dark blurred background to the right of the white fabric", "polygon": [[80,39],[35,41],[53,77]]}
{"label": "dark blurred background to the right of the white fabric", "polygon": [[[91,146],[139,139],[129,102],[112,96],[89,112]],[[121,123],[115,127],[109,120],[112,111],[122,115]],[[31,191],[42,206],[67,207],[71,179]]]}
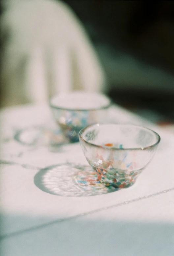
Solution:
{"label": "dark blurred background to the right of the white fabric", "polygon": [[90,35],[108,94],[155,122],[174,121],[174,2],[64,0]]}

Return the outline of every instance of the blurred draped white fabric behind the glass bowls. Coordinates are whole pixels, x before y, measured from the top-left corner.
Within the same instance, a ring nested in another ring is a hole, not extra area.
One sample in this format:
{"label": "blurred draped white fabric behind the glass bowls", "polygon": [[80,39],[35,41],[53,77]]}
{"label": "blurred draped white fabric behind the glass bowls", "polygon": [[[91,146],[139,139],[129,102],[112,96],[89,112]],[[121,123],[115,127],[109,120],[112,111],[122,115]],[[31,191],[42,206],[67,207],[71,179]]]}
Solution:
{"label": "blurred draped white fabric behind the glass bowls", "polygon": [[1,17],[1,105],[46,102],[74,89],[104,91],[105,74],[72,10],[61,1],[7,1]]}

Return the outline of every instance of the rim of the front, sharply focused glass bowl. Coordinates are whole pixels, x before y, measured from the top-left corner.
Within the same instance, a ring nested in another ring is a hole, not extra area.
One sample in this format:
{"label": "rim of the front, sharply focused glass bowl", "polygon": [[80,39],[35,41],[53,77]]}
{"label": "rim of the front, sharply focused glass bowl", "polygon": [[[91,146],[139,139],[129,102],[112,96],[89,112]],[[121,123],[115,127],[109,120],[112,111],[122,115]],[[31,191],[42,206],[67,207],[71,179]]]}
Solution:
{"label": "rim of the front, sharply focused glass bowl", "polygon": [[[152,144],[152,145],[146,146],[146,147],[137,147],[137,148],[116,148],[116,147],[105,147],[105,146],[97,145],[97,144],[94,144],[94,143],[92,143],[92,142],[88,142],[88,141],[86,141],[85,139],[82,138],[83,132],[84,132],[86,129],[88,129],[89,127],[102,126],[102,125],[133,126],[133,127],[144,128],[144,129],[146,129],[146,130],[152,131],[152,132],[157,136],[157,142],[155,142],[155,143]],[[97,123],[97,124],[89,125],[89,126],[87,126],[87,127],[85,127],[85,128],[82,128],[82,129],[79,131],[78,136],[79,136],[79,141],[82,140],[82,141],[84,141],[85,143],[87,143],[87,144],[90,145],[90,146],[99,147],[99,148],[103,148],[103,149],[106,149],[106,150],[146,150],[146,149],[150,149],[150,148],[153,148],[153,147],[157,146],[157,145],[159,144],[160,140],[161,140],[159,134],[158,134],[156,131],[154,131],[154,130],[152,130],[152,129],[150,129],[150,128],[147,128],[147,127],[144,127],[144,126],[140,126],[140,125],[133,125],[133,124],[131,125],[131,124],[114,124],[114,123],[107,123],[107,124],[101,124],[101,123],[99,124],[99,123]]]}

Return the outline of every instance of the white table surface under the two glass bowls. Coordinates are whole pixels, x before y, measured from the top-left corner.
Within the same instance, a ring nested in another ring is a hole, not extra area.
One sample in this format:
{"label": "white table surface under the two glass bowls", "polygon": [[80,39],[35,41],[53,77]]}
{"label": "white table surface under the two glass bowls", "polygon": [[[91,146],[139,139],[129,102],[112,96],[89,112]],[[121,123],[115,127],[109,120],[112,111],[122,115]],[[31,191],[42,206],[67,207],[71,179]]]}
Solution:
{"label": "white table surface under the two glass bowls", "polygon": [[174,256],[174,136],[118,106],[111,108],[110,119],[159,133],[152,162],[130,188],[66,197],[39,189],[34,176],[53,164],[87,164],[79,143],[57,152],[44,146],[31,150],[13,139],[14,132],[51,124],[49,108],[1,110],[0,160],[11,162],[1,162],[1,255]]}

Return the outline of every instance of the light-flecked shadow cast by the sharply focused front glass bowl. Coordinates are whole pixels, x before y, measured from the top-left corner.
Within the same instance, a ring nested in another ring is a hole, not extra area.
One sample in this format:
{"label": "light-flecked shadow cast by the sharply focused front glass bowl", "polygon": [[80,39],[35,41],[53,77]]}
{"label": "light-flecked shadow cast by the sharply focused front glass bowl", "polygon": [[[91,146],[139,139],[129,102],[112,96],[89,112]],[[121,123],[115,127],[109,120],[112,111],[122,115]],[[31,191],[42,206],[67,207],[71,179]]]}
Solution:
{"label": "light-flecked shadow cast by the sharply focused front glass bowl", "polygon": [[92,196],[117,191],[101,184],[91,167],[70,163],[40,170],[34,183],[44,192],[59,196]]}

